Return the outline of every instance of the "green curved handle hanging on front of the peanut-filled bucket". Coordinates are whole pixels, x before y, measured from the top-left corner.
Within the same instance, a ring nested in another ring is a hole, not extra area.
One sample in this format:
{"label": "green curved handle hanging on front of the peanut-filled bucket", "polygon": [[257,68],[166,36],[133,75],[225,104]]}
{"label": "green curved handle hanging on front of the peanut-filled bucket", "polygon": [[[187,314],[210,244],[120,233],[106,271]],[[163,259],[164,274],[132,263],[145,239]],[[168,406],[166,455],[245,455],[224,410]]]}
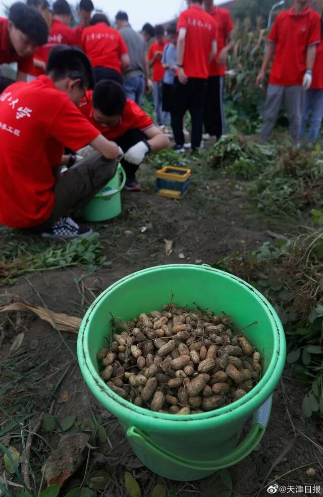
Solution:
{"label": "green curved handle hanging on front of the peanut-filled bucket", "polygon": [[185,468],[199,471],[219,471],[220,469],[233,466],[244,458],[257,447],[266,430],[268,420],[271,413],[273,396],[271,395],[261,407],[254,413],[252,428],[242,442],[232,451],[231,454],[219,458],[214,461],[193,461],[183,459],[180,456],[170,453],[168,450],[161,449],[154,444],[150,438],[140,429],[131,426],[127,431],[127,437],[147,450],[153,452],[161,459],[167,460],[169,463],[179,464]]}

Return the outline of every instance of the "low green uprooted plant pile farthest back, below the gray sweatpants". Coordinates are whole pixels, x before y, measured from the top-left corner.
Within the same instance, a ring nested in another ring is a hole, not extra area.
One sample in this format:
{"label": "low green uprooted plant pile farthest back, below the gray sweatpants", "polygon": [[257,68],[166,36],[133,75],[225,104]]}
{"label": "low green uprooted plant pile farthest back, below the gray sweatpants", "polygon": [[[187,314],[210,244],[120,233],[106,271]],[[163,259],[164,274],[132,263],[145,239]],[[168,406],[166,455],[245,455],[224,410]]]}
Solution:
{"label": "low green uprooted plant pile farthest back, below the gray sweatpants", "polygon": [[274,149],[242,135],[224,135],[207,152],[208,165],[222,169],[236,179],[248,180],[273,164]]}

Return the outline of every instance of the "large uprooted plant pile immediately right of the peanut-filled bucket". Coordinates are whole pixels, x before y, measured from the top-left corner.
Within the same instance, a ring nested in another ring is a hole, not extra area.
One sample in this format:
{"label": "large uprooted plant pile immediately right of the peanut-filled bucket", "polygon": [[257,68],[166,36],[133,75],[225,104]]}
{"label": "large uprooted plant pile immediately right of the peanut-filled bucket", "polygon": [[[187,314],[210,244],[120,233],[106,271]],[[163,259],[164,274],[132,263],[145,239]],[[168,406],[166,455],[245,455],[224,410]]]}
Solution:
{"label": "large uprooted plant pile immediately right of the peanut-filled bucket", "polygon": [[[323,214],[316,212],[316,222]],[[320,214],[320,216],[318,215]],[[310,383],[303,413],[323,417],[323,232],[265,243],[214,264],[249,281],[275,306],[288,341],[287,362]]]}

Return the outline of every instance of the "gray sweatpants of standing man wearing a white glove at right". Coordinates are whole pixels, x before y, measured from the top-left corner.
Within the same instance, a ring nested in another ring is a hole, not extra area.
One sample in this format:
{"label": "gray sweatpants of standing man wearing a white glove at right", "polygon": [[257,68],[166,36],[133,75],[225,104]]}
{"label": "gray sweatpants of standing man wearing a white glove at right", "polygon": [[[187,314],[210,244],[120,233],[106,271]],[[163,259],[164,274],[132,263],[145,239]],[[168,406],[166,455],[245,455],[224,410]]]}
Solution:
{"label": "gray sweatpants of standing man wearing a white glove at right", "polygon": [[277,120],[283,98],[289,120],[289,132],[296,143],[301,138],[301,126],[305,103],[305,91],[302,86],[281,86],[268,84],[264,106],[263,125],[261,129],[261,143],[264,143],[272,132]]}

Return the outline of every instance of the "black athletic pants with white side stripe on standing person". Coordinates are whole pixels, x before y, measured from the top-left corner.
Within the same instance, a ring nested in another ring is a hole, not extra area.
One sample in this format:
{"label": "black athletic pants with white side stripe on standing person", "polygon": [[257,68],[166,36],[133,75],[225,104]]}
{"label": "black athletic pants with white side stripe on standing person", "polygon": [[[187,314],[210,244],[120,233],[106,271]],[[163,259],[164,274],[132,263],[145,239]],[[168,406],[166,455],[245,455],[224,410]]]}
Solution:
{"label": "black athletic pants with white side stripe on standing person", "polygon": [[226,132],[224,76],[210,76],[207,80],[204,130],[218,139]]}

